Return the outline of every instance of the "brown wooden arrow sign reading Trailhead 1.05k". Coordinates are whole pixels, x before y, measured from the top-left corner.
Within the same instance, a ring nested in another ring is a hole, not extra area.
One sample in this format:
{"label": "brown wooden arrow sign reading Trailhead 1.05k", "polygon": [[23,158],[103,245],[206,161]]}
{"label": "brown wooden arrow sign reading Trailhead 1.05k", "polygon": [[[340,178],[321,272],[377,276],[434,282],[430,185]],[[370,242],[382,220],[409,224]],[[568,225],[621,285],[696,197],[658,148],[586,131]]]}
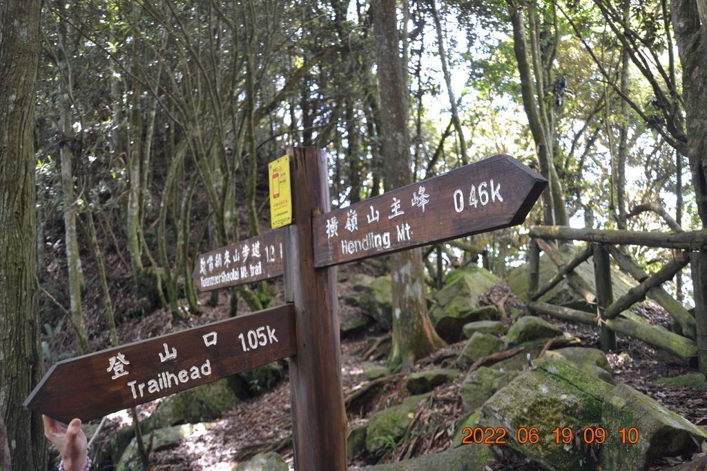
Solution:
{"label": "brown wooden arrow sign reading Trailhead 1.05k", "polygon": [[86,422],[294,354],[286,304],[55,363],[23,405]]}

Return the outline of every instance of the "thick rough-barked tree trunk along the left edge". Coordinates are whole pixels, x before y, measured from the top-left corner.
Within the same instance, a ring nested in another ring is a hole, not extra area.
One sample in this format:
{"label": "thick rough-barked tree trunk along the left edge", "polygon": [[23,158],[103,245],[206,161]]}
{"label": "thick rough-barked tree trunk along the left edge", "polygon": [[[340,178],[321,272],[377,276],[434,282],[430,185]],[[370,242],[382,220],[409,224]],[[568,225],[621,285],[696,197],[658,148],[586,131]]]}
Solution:
{"label": "thick rough-barked tree trunk along the left edge", "polygon": [[0,3],[0,417],[15,470],[47,463],[42,417],[21,406],[44,373],[33,145],[41,8],[39,0]]}

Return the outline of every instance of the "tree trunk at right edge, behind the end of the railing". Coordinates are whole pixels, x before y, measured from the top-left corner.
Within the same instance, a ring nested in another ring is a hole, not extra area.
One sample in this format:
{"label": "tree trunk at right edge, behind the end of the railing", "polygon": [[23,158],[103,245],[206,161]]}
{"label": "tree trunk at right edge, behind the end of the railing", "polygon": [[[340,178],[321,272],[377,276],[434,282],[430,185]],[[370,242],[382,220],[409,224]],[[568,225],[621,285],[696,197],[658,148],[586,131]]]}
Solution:
{"label": "tree trunk at right edge, behind the end of the railing", "polygon": [[[682,63],[682,97],[685,107],[687,145],[695,202],[702,227],[707,227],[707,12],[694,0],[672,2],[672,25]],[[695,287],[695,320],[700,371],[707,372],[707,256],[701,251],[690,264]]]}

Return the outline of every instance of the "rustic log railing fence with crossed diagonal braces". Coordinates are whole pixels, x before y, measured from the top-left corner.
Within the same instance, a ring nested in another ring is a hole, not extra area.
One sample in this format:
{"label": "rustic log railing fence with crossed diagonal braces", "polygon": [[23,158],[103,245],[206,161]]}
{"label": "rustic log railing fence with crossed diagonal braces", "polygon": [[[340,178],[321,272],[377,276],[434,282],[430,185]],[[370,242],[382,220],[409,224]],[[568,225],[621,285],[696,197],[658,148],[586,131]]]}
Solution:
{"label": "rustic log railing fence with crossed diagonal braces", "polygon": [[[664,233],[664,232],[632,232],[626,230],[571,229],[560,226],[533,226],[530,229],[529,273],[527,306],[533,311],[560,318],[575,323],[585,323],[599,326],[600,347],[604,352],[616,350],[616,334],[643,340],[650,345],[672,352],[686,362],[696,362],[697,345],[695,342],[695,318],[677,302],[662,287],[662,283],[671,280],[690,261],[691,251],[703,250],[707,247],[707,231]],[[565,261],[562,254],[548,241],[584,241],[588,242],[586,249],[571,261]],[[672,249],[674,256],[657,273],[648,275],[633,261],[633,258],[621,249],[621,245],[641,245]],[[558,268],[554,275],[543,286],[539,286],[540,252],[544,251]],[[614,299],[612,293],[612,274],[610,256],[617,262],[619,268],[629,273],[638,285],[632,287],[626,294]],[[595,268],[596,292],[587,285],[573,270],[580,263],[593,257]],[[566,279],[570,287],[584,297],[588,304],[595,304],[597,312],[591,314],[578,309],[570,309],[539,302],[538,299],[549,292],[555,285]],[[648,324],[619,318],[621,312],[629,309],[634,303],[648,297],[663,307],[674,320],[672,333],[662,328]],[[682,334],[682,335],[680,335]]]}

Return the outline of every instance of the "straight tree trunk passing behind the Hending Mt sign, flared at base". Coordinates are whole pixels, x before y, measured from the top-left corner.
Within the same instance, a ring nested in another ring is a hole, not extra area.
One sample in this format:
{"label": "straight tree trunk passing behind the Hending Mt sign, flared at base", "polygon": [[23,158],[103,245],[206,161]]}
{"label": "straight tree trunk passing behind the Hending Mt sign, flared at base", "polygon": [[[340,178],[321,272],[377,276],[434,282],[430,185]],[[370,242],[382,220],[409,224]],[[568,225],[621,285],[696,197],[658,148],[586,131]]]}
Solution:
{"label": "straight tree trunk passing behind the Hending Mt sign, flared at base", "polygon": [[[385,186],[390,191],[411,184],[407,86],[399,55],[395,0],[375,0],[373,31],[378,63],[378,92],[383,135]],[[415,360],[443,345],[427,316],[421,249],[391,256],[393,340],[388,364],[410,369]]]}

